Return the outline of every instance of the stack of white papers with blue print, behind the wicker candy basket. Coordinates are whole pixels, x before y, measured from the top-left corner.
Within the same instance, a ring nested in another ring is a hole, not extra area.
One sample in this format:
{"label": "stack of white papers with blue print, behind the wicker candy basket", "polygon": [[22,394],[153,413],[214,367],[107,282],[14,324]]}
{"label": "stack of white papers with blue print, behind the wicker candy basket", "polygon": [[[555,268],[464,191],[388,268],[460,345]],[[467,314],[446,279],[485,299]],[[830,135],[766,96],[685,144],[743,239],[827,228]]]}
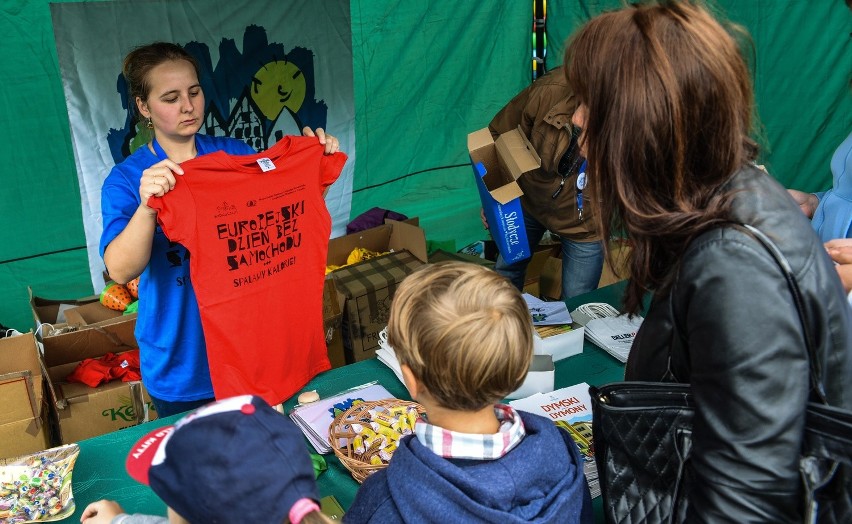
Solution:
{"label": "stack of white papers with blue print, behind the wicker candy basket", "polygon": [[331,451],[328,428],[337,415],[351,408],[353,404],[386,398],[394,397],[381,384],[371,382],[310,404],[296,406],[290,412],[290,418],[299,426],[317,453],[328,453]]}

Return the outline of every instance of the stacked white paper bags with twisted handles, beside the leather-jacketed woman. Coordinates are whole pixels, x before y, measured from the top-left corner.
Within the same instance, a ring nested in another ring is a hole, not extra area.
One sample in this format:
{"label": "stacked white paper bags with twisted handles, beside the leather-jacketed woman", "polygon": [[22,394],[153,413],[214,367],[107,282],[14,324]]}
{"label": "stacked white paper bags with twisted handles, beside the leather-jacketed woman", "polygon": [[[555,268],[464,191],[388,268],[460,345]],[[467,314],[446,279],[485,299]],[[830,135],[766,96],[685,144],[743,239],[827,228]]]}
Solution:
{"label": "stacked white paper bags with twisted handles, beside the leather-jacketed woman", "polygon": [[609,304],[583,304],[571,312],[572,318],[586,327],[586,338],[589,342],[603,349],[620,362],[627,362],[630,347],[636,332],[644,318],[634,315],[619,314],[619,311]]}

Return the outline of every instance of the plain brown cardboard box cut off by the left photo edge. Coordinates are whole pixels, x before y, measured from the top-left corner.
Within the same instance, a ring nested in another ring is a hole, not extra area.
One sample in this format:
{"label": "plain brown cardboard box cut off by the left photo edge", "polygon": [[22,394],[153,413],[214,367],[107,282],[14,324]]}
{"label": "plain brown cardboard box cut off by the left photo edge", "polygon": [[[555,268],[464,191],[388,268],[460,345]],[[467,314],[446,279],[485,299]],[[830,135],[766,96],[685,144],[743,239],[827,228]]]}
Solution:
{"label": "plain brown cardboard box cut off by the left photo edge", "polygon": [[50,447],[43,380],[32,332],[0,338],[0,458]]}

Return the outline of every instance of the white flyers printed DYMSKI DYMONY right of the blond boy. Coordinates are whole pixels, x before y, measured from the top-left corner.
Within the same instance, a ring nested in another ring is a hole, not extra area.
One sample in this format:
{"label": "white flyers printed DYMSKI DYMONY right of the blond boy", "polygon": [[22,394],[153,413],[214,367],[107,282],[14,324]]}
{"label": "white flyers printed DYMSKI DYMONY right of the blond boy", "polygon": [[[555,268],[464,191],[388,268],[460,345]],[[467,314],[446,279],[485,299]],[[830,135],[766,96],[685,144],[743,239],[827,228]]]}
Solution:
{"label": "white flyers printed DYMSKI DYMONY right of the blond boy", "polygon": [[538,393],[513,400],[509,404],[519,410],[541,415],[571,434],[583,457],[583,472],[592,497],[601,494],[598,470],[592,439],[592,402],[589,385],[581,382],[575,386],[557,389],[551,393]]}

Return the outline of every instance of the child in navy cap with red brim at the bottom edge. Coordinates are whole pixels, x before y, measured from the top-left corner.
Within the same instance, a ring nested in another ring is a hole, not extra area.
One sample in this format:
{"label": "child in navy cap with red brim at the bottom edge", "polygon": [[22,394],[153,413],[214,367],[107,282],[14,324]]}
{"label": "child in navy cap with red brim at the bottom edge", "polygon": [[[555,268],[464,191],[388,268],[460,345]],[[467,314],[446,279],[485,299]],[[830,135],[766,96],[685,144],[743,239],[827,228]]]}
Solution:
{"label": "child in navy cap with red brim at the bottom edge", "polygon": [[149,433],[127,456],[127,472],[151,486],[168,518],[100,500],[82,523],[332,522],[320,512],[302,432],[260,397],[214,402]]}

